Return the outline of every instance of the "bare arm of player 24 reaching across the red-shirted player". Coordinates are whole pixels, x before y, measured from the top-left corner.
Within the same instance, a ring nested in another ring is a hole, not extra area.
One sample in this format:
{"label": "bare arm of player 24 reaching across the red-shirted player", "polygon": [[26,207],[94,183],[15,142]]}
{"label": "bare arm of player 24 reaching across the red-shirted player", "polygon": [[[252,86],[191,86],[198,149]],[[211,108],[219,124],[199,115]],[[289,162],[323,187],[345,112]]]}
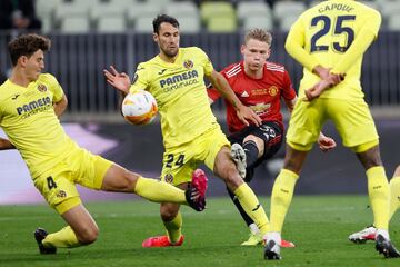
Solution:
{"label": "bare arm of player 24 reaching across the red-shirted player", "polygon": [[261,118],[249,107],[242,105],[239,98],[234,95],[232,88],[229,86],[226,78],[217,72],[212,71],[209,77],[207,77],[212,86],[221,93],[221,96],[227,99],[236,109],[238,118],[246,125],[249,126],[249,121],[253,122],[256,126],[262,123]]}

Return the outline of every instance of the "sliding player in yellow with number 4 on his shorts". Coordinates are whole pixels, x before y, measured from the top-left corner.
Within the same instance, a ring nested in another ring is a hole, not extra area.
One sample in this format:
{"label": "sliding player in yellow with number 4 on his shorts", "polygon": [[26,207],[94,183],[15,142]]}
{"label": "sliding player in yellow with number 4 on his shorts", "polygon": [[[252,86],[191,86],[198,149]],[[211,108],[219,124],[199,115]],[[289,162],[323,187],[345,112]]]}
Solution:
{"label": "sliding player in yellow with number 4 on his shorts", "polygon": [[19,150],[34,186],[68,225],[53,234],[42,228],[34,231],[41,254],[88,245],[98,237],[98,226],[83,207],[74,184],[96,190],[134,192],[157,202],[189,204],[197,210],[204,208],[206,180],[201,177],[182,191],[92,155],[67,136],[59,121],[67,97],[52,75],[41,73],[49,39],[24,34],[8,48],[13,68],[0,86],[0,127],[9,139],[0,138],[0,150]]}

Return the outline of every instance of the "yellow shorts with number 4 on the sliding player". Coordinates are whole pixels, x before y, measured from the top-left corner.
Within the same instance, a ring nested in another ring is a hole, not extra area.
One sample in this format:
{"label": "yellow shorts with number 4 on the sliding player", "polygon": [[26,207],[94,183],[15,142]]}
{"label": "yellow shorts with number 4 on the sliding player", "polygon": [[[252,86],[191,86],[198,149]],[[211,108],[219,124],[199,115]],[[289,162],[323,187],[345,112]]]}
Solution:
{"label": "yellow shorts with number 4 on the sliding player", "polygon": [[79,205],[74,184],[100,189],[112,162],[84,149],[77,149],[70,157],[37,177],[33,182],[48,204],[59,214]]}

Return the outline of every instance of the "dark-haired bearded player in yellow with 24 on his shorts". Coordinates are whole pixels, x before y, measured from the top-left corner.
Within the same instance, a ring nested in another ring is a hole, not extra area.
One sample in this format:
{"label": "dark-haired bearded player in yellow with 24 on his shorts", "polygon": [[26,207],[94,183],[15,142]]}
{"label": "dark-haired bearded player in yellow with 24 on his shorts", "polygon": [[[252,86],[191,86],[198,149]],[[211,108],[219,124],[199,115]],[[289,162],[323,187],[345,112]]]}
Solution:
{"label": "dark-haired bearded player in yellow with 24 on his shorts", "polygon": [[[166,152],[161,179],[187,188],[190,176],[200,162],[224,180],[260,231],[268,231],[268,218],[250,187],[243,182],[230,157],[230,144],[213,116],[206,90],[206,76],[249,125],[260,126],[260,118],[236,97],[227,80],[217,72],[207,55],[197,47],[179,47],[179,22],[167,14],[153,20],[153,39],[160,53],[138,66],[133,83],[126,73],[104,70],[110,85],[123,95],[144,89],[159,106]],[[196,172],[194,172],[196,176]],[[182,217],[179,204],[161,204],[161,218],[167,236],[151,237],[143,247],[180,246]]]}

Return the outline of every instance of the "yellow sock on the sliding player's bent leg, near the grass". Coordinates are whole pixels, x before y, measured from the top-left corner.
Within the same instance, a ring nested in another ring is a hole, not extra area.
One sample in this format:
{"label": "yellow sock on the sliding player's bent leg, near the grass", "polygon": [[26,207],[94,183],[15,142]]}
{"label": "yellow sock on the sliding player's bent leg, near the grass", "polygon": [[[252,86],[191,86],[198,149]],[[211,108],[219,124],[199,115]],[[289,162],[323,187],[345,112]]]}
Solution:
{"label": "yellow sock on the sliding player's bent leg, near the grass", "polygon": [[72,228],[67,226],[61,230],[49,234],[43,240],[44,247],[73,248],[82,246],[73,233]]}

